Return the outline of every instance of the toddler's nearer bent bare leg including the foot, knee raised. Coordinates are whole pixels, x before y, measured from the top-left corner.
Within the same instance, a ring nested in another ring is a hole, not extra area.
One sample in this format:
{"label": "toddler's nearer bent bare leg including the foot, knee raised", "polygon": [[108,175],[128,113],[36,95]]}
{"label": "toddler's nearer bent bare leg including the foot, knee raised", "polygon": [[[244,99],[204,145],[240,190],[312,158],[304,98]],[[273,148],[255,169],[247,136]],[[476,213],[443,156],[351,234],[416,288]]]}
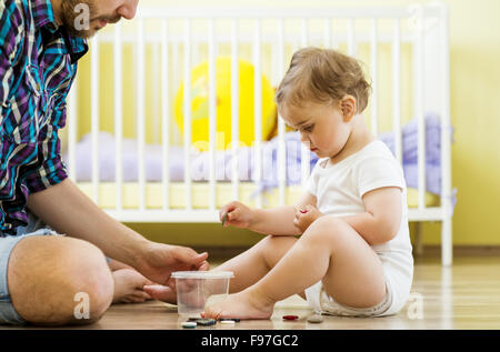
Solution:
{"label": "toddler's nearer bent bare leg including the foot, knee raised", "polygon": [[314,221],[269,273],[248,289],[230,294],[203,316],[269,319],[274,303],[322,280],[339,303],[356,308],[382,301],[386,282],[377,253],[344,221]]}

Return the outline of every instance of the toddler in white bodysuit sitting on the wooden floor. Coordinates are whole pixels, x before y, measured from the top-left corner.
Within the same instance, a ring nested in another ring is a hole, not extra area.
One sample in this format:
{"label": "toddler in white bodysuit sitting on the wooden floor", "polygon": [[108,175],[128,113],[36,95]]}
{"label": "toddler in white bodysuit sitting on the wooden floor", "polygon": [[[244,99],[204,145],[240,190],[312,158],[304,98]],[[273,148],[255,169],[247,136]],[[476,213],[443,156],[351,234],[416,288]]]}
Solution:
{"label": "toddler in white bodysuit sitting on the wooden floor", "polygon": [[224,225],[269,234],[216,270],[234,272],[204,318],[270,319],[292,294],[318,313],[382,316],[402,309],[413,258],[401,165],[368,130],[370,84],[334,50],[293,54],[277,91],[279,113],[319,157],[298,203],[250,209],[231,202]]}

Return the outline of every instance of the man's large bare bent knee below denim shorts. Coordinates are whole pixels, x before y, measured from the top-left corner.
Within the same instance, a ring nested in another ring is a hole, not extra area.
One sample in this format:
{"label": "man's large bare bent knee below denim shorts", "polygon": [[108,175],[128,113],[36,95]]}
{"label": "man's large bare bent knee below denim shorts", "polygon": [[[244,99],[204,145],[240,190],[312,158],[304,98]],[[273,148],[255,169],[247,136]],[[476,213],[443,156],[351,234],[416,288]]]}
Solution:
{"label": "man's large bare bent knee below denim shorts", "polygon": [[93,244],[63,237],[30,237],[9,259],[12,304],[29,323],[62,325],[99,320],[113,296],[103,253]]}

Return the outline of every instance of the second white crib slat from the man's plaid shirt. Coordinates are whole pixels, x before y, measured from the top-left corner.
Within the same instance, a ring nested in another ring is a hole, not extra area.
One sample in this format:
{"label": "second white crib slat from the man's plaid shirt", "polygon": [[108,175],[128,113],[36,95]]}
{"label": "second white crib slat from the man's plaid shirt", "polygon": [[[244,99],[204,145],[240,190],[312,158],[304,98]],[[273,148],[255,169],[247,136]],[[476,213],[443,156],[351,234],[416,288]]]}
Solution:
{"label": "second white crib slat from the man's plaid shirt", "polygon": [[99,204],[99,36],[91,39],[91,141],[92,141],[92,199]]}

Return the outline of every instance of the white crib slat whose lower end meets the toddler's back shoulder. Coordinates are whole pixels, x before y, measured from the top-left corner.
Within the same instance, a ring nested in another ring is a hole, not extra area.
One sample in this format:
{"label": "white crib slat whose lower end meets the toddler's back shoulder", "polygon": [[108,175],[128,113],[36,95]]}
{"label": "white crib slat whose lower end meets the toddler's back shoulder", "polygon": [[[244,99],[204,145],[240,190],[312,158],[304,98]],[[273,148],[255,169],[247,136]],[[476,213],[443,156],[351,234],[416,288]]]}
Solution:
{"label": "white crib slat whose lower end meets the toddler's back shoulder", "polygon": [[392,42],[392,128],[394,131],[396,158],[402,164],[401,131],[401,23],[394,19]]}

